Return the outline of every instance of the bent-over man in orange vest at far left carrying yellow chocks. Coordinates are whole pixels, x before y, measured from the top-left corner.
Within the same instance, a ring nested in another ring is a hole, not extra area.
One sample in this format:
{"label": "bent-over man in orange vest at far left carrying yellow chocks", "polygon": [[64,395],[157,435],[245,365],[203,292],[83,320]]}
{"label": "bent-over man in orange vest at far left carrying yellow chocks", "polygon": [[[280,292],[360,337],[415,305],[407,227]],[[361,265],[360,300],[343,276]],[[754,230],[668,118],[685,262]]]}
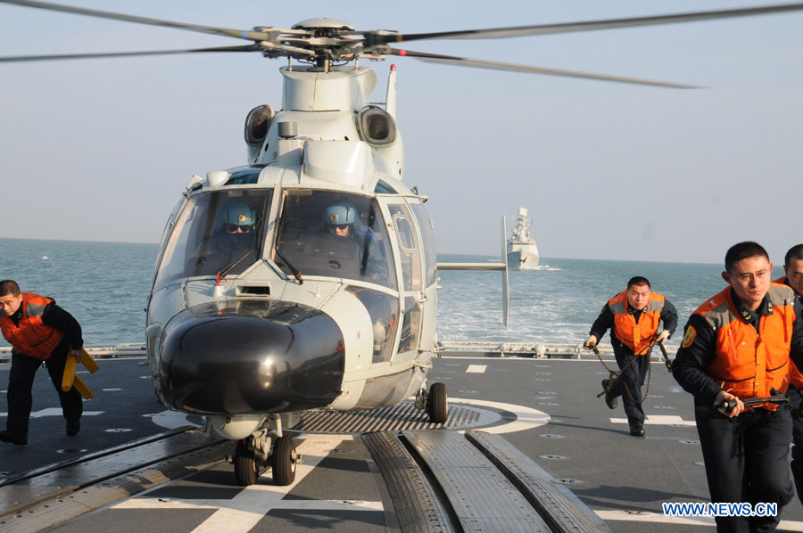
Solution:
{"label": "bent-over man in orange vest at far left carrying yellow chocks", "polygon": [[42,362],[62,404],[67,435],[81,428],[83,403],[75,388],[62,390],[62,374],[67,357],[80,361],[84,340],[81,326],[54,299],[33,292],[21,292],[12,280],[0,282],[0,329],[12,345],[12,367],[8,375],[8,418],[0,440],[16,445],[28,444],[28,421],[32,405],[31,388]]}

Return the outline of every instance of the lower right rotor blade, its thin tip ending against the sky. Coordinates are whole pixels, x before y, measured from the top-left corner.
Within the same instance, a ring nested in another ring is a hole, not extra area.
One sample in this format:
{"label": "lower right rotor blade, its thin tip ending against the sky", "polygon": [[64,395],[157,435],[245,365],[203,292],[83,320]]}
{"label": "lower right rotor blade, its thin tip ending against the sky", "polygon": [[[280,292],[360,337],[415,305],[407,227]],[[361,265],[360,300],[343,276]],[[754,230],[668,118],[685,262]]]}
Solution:
{"label": "lower right rotor blade, its thin tip ending against the sky", "polygon": [[576,70],[549,69],[545,67],[534,67],[531,65],[520,65],[517,63],[503,63],[501,61],[487,61],[483,59],[469,59],[454,55],[443,55],[440,53],[413,52],[411,50],[400,50],[390,48],[386,51],[389,55],[402,57],[414,57],[420,61],[441,63],[456,67],[473,67],[477,69],[507,70],[509,72],[527,72],[530,74],[546,74],[550,76],[565,76],[568,78],[597,79],[600,81],[614,81],[618,83],[628,83],[647,86],[669,87],[673,89],[700,89],[700,86],[690,86],[668,81],[656,81],[651,79],[625,78],[622,76],[610,76],[608,74],[595,74],[592,72],[579,72]]}

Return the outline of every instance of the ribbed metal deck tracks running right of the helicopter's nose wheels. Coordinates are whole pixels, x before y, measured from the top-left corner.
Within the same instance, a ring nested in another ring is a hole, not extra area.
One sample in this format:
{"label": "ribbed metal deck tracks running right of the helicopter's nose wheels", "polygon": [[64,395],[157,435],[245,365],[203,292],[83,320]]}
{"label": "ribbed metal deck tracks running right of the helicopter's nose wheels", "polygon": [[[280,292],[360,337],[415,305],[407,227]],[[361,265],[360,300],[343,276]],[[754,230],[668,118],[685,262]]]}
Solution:
{"label": "ribbed metal deck tracks running right of the helicopter's nose wheels", "polygon": [[550,474],[481,431],[362,437],[385,478],[402,531],[611,531]]}

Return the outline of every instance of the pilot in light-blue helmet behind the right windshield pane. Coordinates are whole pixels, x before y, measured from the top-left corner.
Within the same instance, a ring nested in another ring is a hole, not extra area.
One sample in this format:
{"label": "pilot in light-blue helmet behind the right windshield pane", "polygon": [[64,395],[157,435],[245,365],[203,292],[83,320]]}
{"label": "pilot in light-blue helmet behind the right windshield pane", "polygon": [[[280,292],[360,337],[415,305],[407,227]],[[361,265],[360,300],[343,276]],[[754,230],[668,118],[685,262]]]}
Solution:
{"label": "pilot in light-blue helmet behind the right windshield pane", "polygon": [[336,201],[324,210],[323,223],[329,234],[360,244],[360,276],[385,283],[387,265],[373,230],[362,225],[357,208],[350,201]]}

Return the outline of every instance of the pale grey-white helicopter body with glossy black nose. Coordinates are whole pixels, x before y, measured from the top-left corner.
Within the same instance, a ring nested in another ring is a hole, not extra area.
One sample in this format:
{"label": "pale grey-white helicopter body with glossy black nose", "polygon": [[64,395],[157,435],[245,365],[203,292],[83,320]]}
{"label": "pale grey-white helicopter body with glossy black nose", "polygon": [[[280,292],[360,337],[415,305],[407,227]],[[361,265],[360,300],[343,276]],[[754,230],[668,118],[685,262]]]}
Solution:
{"label": "pale grey-white helicopter body with glossy black nose", "polygon": [[[394,70],[385,109],[368,105],[374,70],[281,72],[249,166],[195,176],[171,214],[148,305],[157,396],[229,439],[278,414],[396,405],[436,344],[435,243],[402,181]],[[232,205],[250,237],[219,231]],[[327,231],[338,212],[351,238]]]}

